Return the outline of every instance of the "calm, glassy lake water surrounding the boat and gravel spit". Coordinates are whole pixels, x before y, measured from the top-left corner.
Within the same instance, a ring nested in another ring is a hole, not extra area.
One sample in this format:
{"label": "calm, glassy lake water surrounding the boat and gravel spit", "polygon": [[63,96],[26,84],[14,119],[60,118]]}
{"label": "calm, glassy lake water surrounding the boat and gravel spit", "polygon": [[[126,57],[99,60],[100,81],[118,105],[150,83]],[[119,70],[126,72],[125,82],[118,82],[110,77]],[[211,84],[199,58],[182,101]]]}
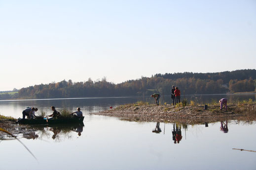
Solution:
{"label": "calm, glassy lake water surrounding the boat and gravel spit", "polygon": [[[164,96],[165,97],[165,96]],[[199,97],[199,96],[196,96]],[[255,94],[204,95],[201,103],[227,97],[255,100]],[[189,99],[189,97],[187,97]],[[194,97],[192,97],[194,98]],[[52,113],[81,108],[83,124],[34,126],[35,134],[17,140],[0,139],[0,170],[216,170],[256,169],[256,122],[228,121],[199,125],[129,122],[116,117],[88,114],[149,97],[79,98],[0,101],[0,114],[20,117],[27,106]],[[164,98],[165,102],[168,96]],[[229,100],[229,101],[230,101]],[[162,101],[163,102],[163,101]],[[176,134],[175,134],[176,133]],[[173,136],[174,135],[174,136]]]}

